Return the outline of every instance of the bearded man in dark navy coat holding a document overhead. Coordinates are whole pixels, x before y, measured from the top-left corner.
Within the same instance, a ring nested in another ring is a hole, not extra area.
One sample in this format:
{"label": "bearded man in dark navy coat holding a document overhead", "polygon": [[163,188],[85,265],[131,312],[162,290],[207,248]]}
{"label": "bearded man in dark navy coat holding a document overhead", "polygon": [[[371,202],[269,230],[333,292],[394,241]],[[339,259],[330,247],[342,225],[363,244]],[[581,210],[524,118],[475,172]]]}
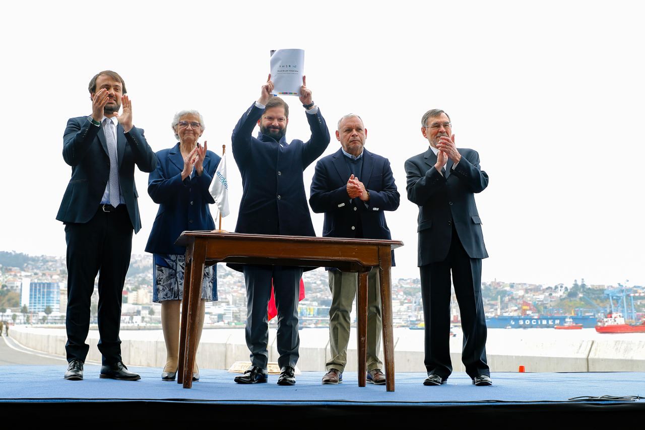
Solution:
{"label": "bearded man in dark navy coat holding a document overhead", "polygon": [[[300,101],[312,131],[307,142],[287,142],[284,135],[289,121],[289,106],[271,97],[271,75],[261,96],[237,122],[232,136],[233,157],[242,175],[243,194],[237,217],[237,233],[264,235],[315,236],[304,194],[303,171],[320,157],[330,137],[312,92],[300,88]],[[251,133],[260,126],[256,137]],[[247,317],[246,345],[251,351],[251,367],[239,384],[266,382],[268,364],[267,306],[271,282],[278,311],[277,350],[281,374],[279,385],[295,384],[293,375],[299,358],[298,297],[303,268],[287,266],[230,265],[244,272]]]}

